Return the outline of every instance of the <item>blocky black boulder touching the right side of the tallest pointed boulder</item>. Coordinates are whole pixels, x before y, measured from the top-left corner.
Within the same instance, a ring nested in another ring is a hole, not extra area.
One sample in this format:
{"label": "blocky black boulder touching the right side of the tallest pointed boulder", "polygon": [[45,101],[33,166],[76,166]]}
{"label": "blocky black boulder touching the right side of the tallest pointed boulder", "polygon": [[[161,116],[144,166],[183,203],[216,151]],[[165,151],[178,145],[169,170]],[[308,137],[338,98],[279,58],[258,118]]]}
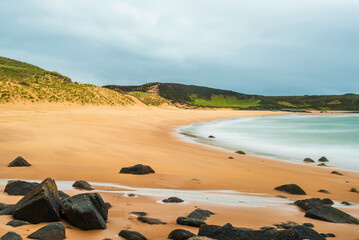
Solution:
{"label": "blocky black boulder touching the right side of the tallest pointed boulder", "polygon": [[82,230],[106,229],[108,209],[98,193],[83,193],[61,201],[61,212]]}

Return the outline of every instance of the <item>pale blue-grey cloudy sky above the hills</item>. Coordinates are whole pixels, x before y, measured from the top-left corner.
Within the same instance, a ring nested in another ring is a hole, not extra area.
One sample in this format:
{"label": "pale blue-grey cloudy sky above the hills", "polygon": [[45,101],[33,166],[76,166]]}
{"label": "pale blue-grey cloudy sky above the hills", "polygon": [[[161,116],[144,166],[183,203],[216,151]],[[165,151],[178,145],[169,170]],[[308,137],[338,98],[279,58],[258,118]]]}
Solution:
{"label": "pale blue-grey cloudy sky above the hills", "polygon": [[359,93],[359,1],[1,0],[0,56],[99,86]]}

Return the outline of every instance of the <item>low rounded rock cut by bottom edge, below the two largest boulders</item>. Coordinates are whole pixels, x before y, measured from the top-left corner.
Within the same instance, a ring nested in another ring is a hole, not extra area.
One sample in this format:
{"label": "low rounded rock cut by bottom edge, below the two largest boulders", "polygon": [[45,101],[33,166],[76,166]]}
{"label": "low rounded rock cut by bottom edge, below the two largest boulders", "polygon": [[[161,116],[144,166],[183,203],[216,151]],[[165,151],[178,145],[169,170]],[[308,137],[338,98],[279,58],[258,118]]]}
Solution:
{"label": "low rounded rock cut by bottom edge, below the two largest boulders", "polygon": [[50,223],[31,233],[28,238],[41,240],[63,240],[65,236],[65,227],[61,223]]}

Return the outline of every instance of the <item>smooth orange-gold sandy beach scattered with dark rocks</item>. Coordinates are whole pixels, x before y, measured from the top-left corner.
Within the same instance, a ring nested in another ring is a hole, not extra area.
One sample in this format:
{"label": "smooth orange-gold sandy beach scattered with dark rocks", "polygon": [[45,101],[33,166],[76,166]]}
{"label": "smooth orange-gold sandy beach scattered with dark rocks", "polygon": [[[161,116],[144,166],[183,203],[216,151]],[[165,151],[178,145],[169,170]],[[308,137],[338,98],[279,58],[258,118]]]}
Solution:
{"label": "smooth orange-gold sandy beach scattered with dark rocks", "polygon": [[[113,183],[137,188],[179,190],[233,190],[261,193],[290,199],[329,197],[336,202],[359,204],[357,172],[340,170],[344,175],[331,174],[333,168],[311,164],[295,164],[257,156],[238,155],[203,145],[183,141],[176,134],[180,126],[232,117],[253,117],[283,114],[271,111],[183,110],[171,107],[155,108],[137,104],[132,107],[96,107],[64,104],[0,105],[0,173],[1,179],[41,181],[51,177],[56,181],[86,180]],[[210,135],[210,133],[208,133]],[[8,168],[10,161],[22,156],[33,166]],[[228,157],[232,156],[233,159]],[[122,167],[150,165],[155,174],[135,176],[119,174]],[[273,190],[274,187],[296,183],[307,196],[294,196]],[[1,186],[3,190],[4,186]],[[97,187],[98,190],[106,190]],[[331,194],[318,192],[326,189]],[[69,190],[73,195],[83,191]],[[163,197],[127,197],[122,193],[101,192],[113,206],[109,210],[107,230],[81,231],[67,229],[68,239],[121,239],[122,229],[138,231],[148,239],[167,239],[177,228],[197,233],[198,229],[176,225],[176,218],[187,216],[195,206],[216,215],[208,224],[227,222],[238,227],[258,229],[282,221],[311,222],[320,233],[335,233],[336,239],[359,239],[356,225],[334,224],[304,217],[293,205],[229,206],[187,201],[183,204],[160,204]],[[20,197],[1,191],[0,202],[16,203]],[[339,207],[340,208],[340,207]],[[359,217],[356,207],[340,208]],[[147,225],[129,213],[144,211],[166,225]],[[39,225],[16,229],[5,226],[10,216],[0,217],[0,234],[16,231],[25,238]],[[65,223],[66,226],[69,224]]]}

